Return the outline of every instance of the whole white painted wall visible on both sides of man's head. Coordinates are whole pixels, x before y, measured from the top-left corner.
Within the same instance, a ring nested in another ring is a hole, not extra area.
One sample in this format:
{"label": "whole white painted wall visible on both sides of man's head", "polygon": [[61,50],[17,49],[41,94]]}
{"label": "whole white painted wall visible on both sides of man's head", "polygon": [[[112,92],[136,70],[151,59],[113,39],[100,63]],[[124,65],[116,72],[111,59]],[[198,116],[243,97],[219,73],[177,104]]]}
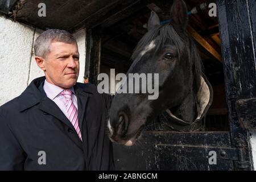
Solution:
{"label": "whole white painted wall visible on both sides of man's head", "polygon": [[[0,106],[19,96],[34,78],[43,76],[35,63],[32,45],[43,32],[0,16]],[[73,34],[80,53],[78,82],[84,81],[86,31]]]}

